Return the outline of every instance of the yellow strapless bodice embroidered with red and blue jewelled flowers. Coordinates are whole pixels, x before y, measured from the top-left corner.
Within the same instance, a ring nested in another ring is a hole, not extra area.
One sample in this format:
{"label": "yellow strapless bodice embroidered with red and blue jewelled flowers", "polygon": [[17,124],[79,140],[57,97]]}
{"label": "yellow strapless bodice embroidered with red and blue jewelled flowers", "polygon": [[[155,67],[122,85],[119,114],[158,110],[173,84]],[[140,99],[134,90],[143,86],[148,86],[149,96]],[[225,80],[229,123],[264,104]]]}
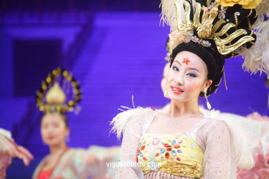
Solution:
{"label": "yellow strapless bodice embroidered with red and blue jewelled flowers", "polygon": [[188,134],[144,134],[137,149],[143,173],[163,171],[175,176],[201,178],[203,151]]}

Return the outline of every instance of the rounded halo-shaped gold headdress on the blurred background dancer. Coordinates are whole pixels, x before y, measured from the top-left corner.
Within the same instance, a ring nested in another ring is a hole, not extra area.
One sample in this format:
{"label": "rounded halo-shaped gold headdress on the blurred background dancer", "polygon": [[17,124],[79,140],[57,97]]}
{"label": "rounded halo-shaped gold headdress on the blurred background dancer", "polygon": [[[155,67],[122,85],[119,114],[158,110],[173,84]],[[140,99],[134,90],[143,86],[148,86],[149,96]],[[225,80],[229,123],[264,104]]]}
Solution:
{"label": "rounded halo-shaped gold headdress on the blurred background dancer", "polygon": [[[72,87],[71,99],[68,102],[66,102],[68,97],[59,84],[61,79],[63,79],[64,86]],[[79,83],[68,71],[58,67],[48,74],[46,80],[42,81],[36,99],[37,107],[42,112],[72,112],[75,105],[81,100],[81,89]]]}

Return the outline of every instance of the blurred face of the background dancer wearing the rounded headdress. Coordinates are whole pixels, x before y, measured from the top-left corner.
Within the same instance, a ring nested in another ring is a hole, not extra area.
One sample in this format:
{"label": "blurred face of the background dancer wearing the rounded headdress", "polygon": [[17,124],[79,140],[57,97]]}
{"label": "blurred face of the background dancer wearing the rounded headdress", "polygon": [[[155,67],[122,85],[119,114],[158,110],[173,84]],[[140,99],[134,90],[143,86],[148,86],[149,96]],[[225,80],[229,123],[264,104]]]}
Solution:
{"label": "blurred face of the background dancer wearing the rounded headdress", "polygon": [[41,136],[43,143],[57,146],[65,143],[69,128],[61,114],[45,114],[41,120]]}

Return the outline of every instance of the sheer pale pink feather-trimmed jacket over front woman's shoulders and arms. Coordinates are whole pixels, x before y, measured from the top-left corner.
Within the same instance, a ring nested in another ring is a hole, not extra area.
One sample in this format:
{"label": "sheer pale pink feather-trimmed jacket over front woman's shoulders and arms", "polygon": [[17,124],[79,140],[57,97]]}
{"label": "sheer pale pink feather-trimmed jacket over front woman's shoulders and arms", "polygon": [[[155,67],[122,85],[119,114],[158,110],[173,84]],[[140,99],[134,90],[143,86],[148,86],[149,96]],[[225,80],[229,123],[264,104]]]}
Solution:
{"label": "sheer pale pink feather-trimmed jacket over front woman's shoulders and arms", "polygon": [[[157,112],[160,111],[138,107],[113,118],[112,132],[116,132],[119,138],[123,133],[117,178],[143,178],[143,171],[135,165],[137,148],[141,136],[146,134]],[[252,168],[248,140],[239,125],[221,118],[219,112],[204,114],[204,120],[188,131],[188,135],[204,151],[203,178],[236,178],[237,167]]]}

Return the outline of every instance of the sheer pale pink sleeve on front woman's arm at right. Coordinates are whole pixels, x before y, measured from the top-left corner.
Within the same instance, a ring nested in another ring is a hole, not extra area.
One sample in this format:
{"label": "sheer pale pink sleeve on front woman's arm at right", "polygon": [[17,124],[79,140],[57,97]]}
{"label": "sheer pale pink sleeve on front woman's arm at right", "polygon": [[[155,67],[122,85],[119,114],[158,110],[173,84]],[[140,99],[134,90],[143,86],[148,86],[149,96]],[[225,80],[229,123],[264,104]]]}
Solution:
{"label": "sheer pale pink sleeve on front woman's arm at right", "polygon": [[229,127],[215,121],[206,131],[204,179],[236,178],[235,149]]}

